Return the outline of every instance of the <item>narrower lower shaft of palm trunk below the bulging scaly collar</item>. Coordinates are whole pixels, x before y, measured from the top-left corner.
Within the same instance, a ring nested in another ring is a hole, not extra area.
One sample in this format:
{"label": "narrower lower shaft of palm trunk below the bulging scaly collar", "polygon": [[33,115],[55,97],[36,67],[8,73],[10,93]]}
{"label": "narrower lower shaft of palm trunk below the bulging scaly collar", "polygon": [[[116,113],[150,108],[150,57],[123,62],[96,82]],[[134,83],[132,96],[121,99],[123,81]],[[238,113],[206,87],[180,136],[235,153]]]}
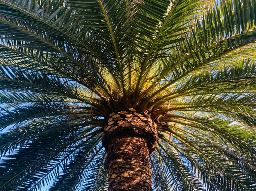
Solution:
{"label": "narrower lower shaft of palm trunk below the bulging scaly collar", "polygon": [[147,140],[114,138],[108,144],[109,191],[152,191]]}

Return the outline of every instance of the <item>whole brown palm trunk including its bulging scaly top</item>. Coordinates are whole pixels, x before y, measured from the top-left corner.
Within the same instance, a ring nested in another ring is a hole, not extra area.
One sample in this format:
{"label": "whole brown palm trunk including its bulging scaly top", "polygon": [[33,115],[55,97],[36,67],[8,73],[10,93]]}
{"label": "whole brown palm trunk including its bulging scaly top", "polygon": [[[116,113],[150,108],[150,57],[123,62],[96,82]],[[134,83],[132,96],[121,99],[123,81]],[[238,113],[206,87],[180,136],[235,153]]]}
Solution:
{"label": "whole brown palm trunk including its bulging scaly top", "polygon": [[109,114],[102,135],[109,191],[152,191],[149,154],[156,147],[156,128],[147,113],[133,108]]}

